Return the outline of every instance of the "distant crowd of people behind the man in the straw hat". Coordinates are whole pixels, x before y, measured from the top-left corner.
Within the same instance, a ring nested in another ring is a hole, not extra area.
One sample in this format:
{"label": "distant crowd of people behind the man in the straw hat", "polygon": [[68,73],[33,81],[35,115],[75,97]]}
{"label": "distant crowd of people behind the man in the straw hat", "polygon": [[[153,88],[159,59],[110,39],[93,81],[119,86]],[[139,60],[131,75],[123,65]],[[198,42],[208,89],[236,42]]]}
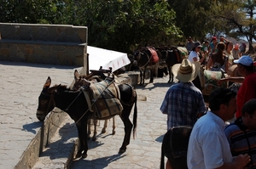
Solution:
{"label": "distant crowd of people behind the man in the straw hat", "polygon": [[[189,51],[190,62],[199,61],[201,65],[206,65],[207,70],[228,70],[234,64],[234,59],[239,59],[246,51],[246,44],[230,42],[224,36],[212,37],[209,42],[194,42],[192,37],[188,37],[186,48]],[[196,49],[199,48],[199,49]]]}

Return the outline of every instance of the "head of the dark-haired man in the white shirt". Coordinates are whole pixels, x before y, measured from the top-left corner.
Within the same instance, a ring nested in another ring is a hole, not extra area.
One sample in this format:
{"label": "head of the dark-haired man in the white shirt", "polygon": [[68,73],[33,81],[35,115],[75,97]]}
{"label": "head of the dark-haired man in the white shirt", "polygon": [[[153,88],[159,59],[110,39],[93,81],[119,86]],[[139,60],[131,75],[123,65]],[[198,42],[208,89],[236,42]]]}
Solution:
{"label": "head of the dark-haired man in the white shirt", "polygon": [[224,87],[212,91],[209,108],[224,121],[232,119],[236,113],[236,92]]}

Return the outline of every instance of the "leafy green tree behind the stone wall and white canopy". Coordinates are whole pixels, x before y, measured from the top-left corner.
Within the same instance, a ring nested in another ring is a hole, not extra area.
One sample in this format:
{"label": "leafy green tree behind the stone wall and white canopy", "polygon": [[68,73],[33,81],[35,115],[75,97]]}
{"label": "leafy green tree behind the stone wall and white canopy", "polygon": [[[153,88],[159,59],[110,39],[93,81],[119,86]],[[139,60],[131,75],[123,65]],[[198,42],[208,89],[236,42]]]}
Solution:
{"label": "leafy green tree behind the stone wall and white canopy", "polygon": [[63,15],[55,22],[88,26],[88,42],[96,47],[131,52],[140,45],[164,45],[182,35],[166,1],[67,0],[63,4]]}

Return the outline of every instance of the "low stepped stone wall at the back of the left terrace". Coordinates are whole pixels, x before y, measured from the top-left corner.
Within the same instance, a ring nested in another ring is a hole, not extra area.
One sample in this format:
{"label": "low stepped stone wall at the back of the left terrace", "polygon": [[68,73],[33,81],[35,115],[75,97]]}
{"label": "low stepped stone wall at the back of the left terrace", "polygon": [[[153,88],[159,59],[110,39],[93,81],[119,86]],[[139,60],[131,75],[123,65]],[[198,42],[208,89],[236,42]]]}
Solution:
{"label": "low stepped stone wall at the back of the left terrace", "polygon": [[87,27],[0,23],[0,60],[86,65]]}

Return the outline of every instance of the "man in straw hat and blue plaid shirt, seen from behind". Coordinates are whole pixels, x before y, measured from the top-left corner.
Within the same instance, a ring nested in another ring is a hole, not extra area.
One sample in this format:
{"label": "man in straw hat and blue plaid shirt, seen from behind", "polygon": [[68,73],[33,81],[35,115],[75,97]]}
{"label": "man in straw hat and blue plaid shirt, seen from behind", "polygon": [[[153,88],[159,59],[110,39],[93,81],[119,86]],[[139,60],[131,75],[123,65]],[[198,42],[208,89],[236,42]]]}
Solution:
{"label": "man in straw hat and blue plaid shirt, seen from behind", "polygon": [[[160,106],[161,112],[167,115],[167,130],[177,126],[193,127],[206,111],[202,93],[192,82],[199,71],[200,63],[191,64],[189,59],[172,66],[172,73],[179,83],[168,89]],[[169,161],[166,162],[167,168],[172,168]]]}

